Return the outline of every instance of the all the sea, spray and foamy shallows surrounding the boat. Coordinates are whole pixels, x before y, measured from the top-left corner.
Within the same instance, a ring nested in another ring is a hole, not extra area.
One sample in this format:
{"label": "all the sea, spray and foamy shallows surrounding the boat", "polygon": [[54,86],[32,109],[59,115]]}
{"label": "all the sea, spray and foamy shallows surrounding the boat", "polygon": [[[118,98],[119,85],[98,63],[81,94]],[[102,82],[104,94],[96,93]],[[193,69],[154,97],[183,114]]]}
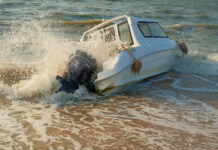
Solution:
{"label": "all the sea, spray and foamy shallows surrounding the boat", "polygon": [[[55,93],[75,50],[113,54],[82,33],[123,14],[159,20],[189,54],[115,95]],[[0,0],[0,149],[218,149],[217,43],[217,0]]]}

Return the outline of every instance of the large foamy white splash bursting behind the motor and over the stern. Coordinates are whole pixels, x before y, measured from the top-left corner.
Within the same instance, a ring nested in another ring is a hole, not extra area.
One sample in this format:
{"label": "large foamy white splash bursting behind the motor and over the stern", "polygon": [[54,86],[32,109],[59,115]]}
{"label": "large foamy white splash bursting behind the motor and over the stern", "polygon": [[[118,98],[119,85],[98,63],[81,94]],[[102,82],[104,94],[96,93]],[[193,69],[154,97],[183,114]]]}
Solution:
{"label": "large foamy white splash bursting behind the motor and over the stern", "polygon": [[118,44],[80,43],[54,34],[40,23],[27,22],[5,33],[0,45],[2,93],[12,99],[34,99],[54,94],[59,86],[56,75],[65,72],[69,55],[77,49],[87,51],[102,64],[115,56]]}

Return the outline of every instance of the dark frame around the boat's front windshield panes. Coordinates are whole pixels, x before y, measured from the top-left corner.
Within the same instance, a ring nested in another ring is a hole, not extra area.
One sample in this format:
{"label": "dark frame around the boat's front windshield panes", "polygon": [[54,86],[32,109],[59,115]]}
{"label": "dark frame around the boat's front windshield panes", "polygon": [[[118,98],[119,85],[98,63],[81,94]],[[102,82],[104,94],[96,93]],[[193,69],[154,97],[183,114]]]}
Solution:
{"label": "dark frame around the boat's front windshield panes", "polygon": [[[145,24],[146,24],[146,26],[148,27],[148,30],[149,30],[150,33],[151,33],[151,36],[145,36],[145,35],[143,34],[143,32],[142,32],[142,30],[141,30],[141,28],[140,28],[139,23],[145,23]],[[156,24],[160,27],[160,29],[163,31],[163,33],[164,33],[166,36],[152,36],[152,32],[151,32],[149,23],[156,23]],[[160,26],[160,24],[159,24],[158,22],[152,22],[152,21],[138,21],[138,22],[137,22],[137,26],[138,26],[138,28],[139,28],[141,34],[142,34],[145,38],[168,38],[166,32],[164,31],[164,29]]]}

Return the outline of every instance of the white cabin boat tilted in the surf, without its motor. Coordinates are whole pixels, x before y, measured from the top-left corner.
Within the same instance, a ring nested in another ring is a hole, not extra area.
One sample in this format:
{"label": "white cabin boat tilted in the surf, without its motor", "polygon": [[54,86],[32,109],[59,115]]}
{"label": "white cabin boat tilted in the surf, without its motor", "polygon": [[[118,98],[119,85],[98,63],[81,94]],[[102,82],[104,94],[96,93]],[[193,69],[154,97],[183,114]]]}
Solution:
{"label": "white cabin boat tilted in the surf, without its motor", "polygon": [[134,60],[125,50],[105,60],[94,83],[100,94],[167,72],[173,66],[179,48],[153,19],[119,16],[84,32],[81,41],[93,40],[93,35],[100,35],[103,42],[126,42],[131,54],[142,63],[140,71],[133,72]]}

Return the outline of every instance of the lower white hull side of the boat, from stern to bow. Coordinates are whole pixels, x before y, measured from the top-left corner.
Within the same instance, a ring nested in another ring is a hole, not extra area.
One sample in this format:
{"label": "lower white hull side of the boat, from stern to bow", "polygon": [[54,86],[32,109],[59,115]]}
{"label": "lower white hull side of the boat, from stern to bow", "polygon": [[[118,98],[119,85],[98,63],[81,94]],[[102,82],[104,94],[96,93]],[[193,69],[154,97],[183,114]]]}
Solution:
{"label": "lower white hull side of the boat, from stern to bow", "polygon": [[141,58],[142,68],[139,73],[134,73],[129,65],[124,70],[105,79],[96,80],[95,87],[99,93],[107,93],[125,84],[140,81],[142,79],[168,71],[175,62],[176,50],[164,50],[155,52]]}

